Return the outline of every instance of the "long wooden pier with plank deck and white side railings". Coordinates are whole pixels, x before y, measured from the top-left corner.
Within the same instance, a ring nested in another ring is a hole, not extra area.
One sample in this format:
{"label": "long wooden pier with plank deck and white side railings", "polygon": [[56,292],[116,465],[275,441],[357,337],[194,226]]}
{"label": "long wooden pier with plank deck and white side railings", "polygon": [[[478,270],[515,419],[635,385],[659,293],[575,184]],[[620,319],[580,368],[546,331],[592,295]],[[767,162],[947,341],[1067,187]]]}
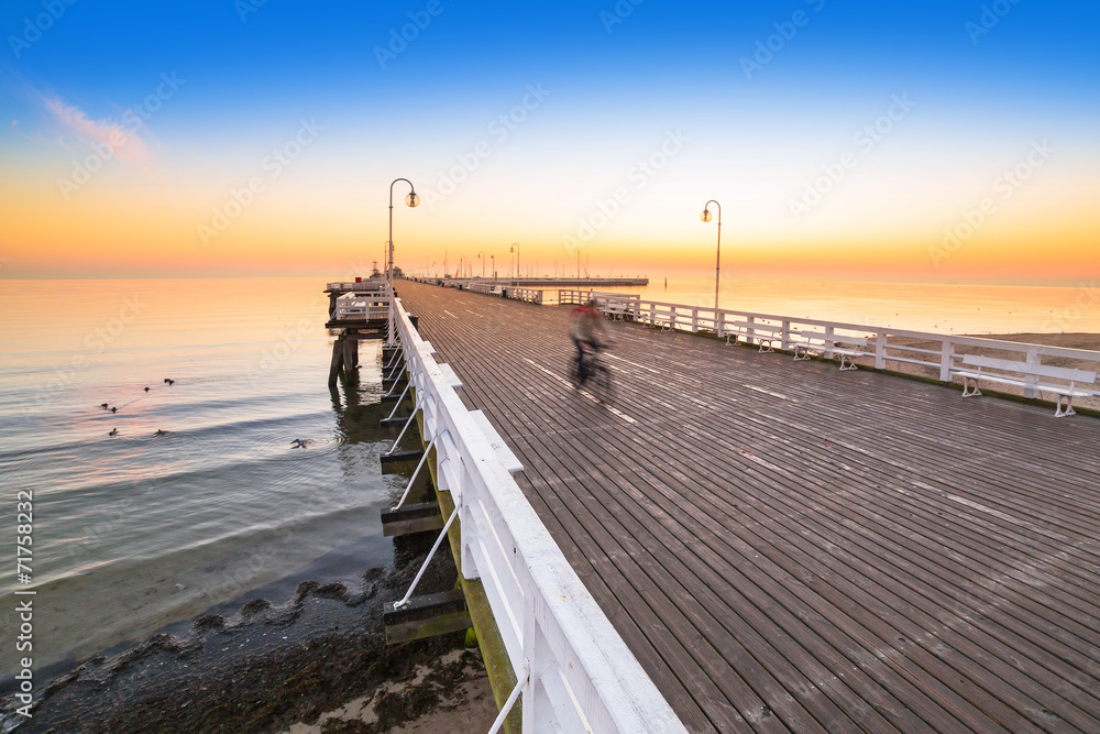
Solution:
{"label": "long wooden pier with plank deck and white side railings", "polygon": [[1089,392],[1100,353],[998,342],[1022,398],[964,399],[1012,374],[989,340],[639,300],[605,404],[569,382],[568,306],[397,291],[525,730],[1100,731],[1100,420],[1032,397]]}

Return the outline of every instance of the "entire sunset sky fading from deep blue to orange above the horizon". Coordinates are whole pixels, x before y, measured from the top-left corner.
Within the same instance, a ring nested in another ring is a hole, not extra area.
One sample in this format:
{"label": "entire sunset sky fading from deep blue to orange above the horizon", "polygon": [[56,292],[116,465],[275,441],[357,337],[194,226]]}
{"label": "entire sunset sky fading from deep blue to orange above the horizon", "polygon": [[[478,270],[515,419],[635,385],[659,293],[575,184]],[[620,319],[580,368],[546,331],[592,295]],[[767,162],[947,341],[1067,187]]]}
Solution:
{"label": "entire sunset sky fading from deep blue to orange above the horizon", "polygon": [[[695,12],[689,13],[691,7]],[[733,9],[732,9],[733,7]],[[1100,274],[1100,7],[9,1],[0,277]]]}

